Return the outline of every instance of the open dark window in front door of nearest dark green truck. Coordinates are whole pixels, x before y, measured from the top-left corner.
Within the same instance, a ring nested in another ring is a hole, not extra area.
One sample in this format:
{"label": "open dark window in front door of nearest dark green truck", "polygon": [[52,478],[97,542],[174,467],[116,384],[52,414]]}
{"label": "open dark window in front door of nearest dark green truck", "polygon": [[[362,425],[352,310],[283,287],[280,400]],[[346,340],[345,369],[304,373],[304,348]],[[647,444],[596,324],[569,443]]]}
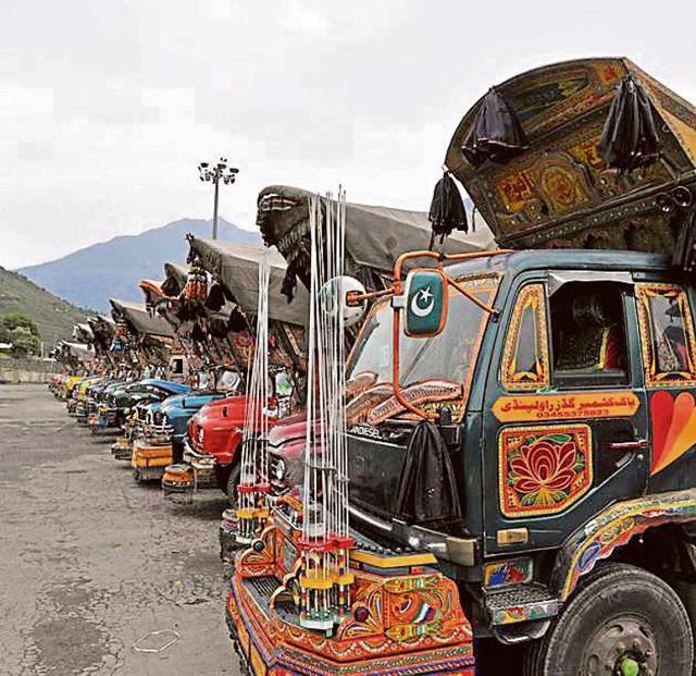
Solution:
{"label": "open dark window in front door of nearest dark green truck", "polygon": [[623,288],[616,282],[570,282],[551,296],[555,384],[629,382]]}

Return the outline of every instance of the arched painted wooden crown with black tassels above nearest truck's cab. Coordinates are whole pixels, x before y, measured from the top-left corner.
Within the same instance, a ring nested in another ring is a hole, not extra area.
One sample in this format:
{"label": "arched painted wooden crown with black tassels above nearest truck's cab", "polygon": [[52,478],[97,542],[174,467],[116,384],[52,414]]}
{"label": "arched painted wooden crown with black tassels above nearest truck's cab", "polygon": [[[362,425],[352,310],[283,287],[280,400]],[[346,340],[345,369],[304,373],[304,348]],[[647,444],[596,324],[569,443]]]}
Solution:
{"label": "arched painted wooden crown with black tassels above nearest truck's cab", "polygon": [[457,126],[445,164],[499,246],[674,250],[684,188],[696,187],[694,106],[623,58],[545,65],[496,91],[529,148],[506,163],[470,161],[484,97]]}

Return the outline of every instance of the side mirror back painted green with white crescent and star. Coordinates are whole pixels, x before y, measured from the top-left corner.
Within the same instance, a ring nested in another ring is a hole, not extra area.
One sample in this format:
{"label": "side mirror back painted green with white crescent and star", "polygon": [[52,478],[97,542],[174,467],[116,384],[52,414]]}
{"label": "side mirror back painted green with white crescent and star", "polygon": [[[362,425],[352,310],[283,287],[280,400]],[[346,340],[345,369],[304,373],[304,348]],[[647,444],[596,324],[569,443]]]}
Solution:
{"label": "side mirror back painted green with white crescent and star", "polygon": [[447,279],[433,269],[411,270],[406,276],[406,320],[403,330],[410,337],[432,337],[447,321]]}

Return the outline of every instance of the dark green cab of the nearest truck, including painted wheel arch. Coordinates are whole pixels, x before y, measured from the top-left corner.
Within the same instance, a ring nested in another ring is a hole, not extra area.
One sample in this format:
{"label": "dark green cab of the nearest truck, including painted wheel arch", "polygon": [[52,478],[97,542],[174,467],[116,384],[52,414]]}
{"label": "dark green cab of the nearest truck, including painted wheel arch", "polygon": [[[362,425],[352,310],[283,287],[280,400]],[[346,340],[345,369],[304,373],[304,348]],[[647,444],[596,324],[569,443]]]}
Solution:
{"label": "dark green cab of the nearest truck, including painted wheel arch", "polygon": [[[401,325],[398,382],[412,408],[395,394],[393,299],[371,309],[348,359],[357,541],[373,563],[375,552],[430,555],[455,582],[472,638],[526,643],[530,676],[566,673],[535,672],[534,660],[567,631],[569,609],[577,618],[586,587],[638,580],[663,612],[643,624],[631,612],[611,627],[593,619],[599,634],[583,629],[589,652],[579,660],[630,643],[612,652],[612,668],[631,673],[635,656],[647,665],[637,673],[658,673],[663,617],[672,613],[693,644],[693,284],[664,256],[611,250],[502,251],[444,272],[481,306],[449,286],[435,335]],[[445,458],[413,447],[428,414]],[[288,465],[301,456],[273,455]]]}

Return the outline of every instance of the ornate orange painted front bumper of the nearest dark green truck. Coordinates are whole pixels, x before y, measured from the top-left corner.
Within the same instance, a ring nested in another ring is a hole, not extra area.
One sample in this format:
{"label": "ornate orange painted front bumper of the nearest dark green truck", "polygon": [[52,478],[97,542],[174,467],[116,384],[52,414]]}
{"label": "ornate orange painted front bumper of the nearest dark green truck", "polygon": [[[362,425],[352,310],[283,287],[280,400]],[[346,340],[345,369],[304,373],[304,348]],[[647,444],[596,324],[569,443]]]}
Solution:
{"label": "ornate orange painted front bumper of the nearest dark green truck", "polygon": [[235,560],[227,624],[247,673],[474,676],[471,623],[456,583],[430,565],[432,554],[356,541],[351,610],[335,618],[327,635],[300,618],[296,562],[301,531],[282,521],[266,526]]}

